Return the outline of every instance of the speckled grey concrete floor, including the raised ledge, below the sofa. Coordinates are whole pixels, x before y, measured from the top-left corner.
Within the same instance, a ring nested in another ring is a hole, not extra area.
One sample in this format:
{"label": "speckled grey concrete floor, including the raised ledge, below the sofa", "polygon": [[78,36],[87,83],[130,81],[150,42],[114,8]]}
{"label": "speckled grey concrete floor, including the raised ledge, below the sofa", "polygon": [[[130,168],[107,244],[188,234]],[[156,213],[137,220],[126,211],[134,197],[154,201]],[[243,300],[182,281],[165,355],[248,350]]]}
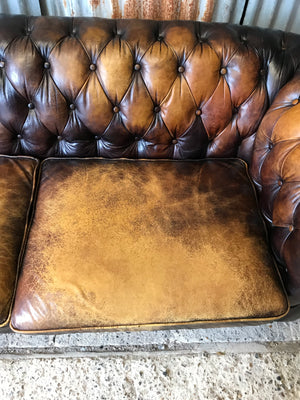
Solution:
{"label": "speckled grey concrete floor, including the raised ledge, below the sofa", "polygon": [[300,320],[0,335],[0,399],[300,400]]}

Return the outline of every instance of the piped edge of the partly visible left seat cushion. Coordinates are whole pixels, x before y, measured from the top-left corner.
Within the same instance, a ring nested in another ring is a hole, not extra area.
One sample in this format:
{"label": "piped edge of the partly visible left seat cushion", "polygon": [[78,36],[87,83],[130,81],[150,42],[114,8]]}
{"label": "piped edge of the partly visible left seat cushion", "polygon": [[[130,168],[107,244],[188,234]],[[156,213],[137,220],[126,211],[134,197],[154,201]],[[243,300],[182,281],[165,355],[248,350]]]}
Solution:
{"label": "piped edge of the partly visible left seat cushion", "polygon": [[12,155],[1,154],[0,157],[1,158],[10,158],[13,160],[27,159],[27,160],[32,160],[32,161],[36,162],[34,171],[32,174],[31,195],[30,195],[30,200],[29,200],[28,207],[27,207],[26,222],[25,222],[25,226],[24,226],[21,247],[20,247],[20,251],[19,251],[19,255],[18,255],[16,278],[15,278],[15,284],[14,284],[14,288],[13,288],[12,296],[11,296],[11,300],[10,300],[10,307],[9,307],[7,318],[0,324],[0,328],[3,328],[7,325],[9,325],[9,327],[11,328],[11,326],[10,326],[11,314],[12,314],[12,309],[13,309],[14,300],[15,300],[16,291],[17,291],[20,267],[22,264],[22,259],[23,259],[23,255],[24,255],[24,251],[25,251],[25,247],[26,247],[26,243],[27,243],[27,237],[28,237],[28,234],[30,231],[30,224],[31,224],[31,219],[32,219],[31,218],[31,210],[32,210],[32,206],[33,206],[34,196],[35,196],[36,175],[37,175],[37,170],[39,169],[40,161],[37,158],[31,157],[31,156],[12,156]]}

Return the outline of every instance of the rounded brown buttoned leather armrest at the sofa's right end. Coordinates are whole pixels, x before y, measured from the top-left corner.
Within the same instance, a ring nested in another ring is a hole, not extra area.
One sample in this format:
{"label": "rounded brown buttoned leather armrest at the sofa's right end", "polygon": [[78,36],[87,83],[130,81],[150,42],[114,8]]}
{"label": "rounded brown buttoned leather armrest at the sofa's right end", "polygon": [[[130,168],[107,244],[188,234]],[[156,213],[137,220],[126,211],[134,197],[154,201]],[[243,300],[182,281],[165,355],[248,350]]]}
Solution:
{"label": "rounded brown buttoned leather armrest at the sofa's right end", "polygon": [[263,118],[251,175],[270,223],[275,257],[286,268],[291,304],[300,303],[300,71]]}

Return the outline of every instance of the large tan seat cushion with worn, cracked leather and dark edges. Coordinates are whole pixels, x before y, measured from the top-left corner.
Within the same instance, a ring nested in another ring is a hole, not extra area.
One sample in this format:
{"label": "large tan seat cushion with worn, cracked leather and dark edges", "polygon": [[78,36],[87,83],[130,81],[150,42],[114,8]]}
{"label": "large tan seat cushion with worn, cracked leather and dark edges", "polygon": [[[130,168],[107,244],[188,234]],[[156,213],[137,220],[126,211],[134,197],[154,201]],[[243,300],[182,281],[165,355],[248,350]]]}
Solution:
{"label": "large tan seat cushion with worn, cracked leather and dark edges", "polygon": [[156,328],[287,310],[242,161],[43,163],[13,329]]}

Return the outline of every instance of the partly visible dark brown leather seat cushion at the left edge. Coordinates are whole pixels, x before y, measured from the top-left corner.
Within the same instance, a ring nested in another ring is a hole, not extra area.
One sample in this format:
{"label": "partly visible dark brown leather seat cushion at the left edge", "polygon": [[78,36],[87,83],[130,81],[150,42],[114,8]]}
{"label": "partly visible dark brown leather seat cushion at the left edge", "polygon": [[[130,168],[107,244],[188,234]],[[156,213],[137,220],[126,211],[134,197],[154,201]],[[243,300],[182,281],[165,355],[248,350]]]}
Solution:
{"label": "partly visible dark brown leather seat cushion at the left edge", "polygon": [[37,164],[0,156],[0,326],[9,319]]}

